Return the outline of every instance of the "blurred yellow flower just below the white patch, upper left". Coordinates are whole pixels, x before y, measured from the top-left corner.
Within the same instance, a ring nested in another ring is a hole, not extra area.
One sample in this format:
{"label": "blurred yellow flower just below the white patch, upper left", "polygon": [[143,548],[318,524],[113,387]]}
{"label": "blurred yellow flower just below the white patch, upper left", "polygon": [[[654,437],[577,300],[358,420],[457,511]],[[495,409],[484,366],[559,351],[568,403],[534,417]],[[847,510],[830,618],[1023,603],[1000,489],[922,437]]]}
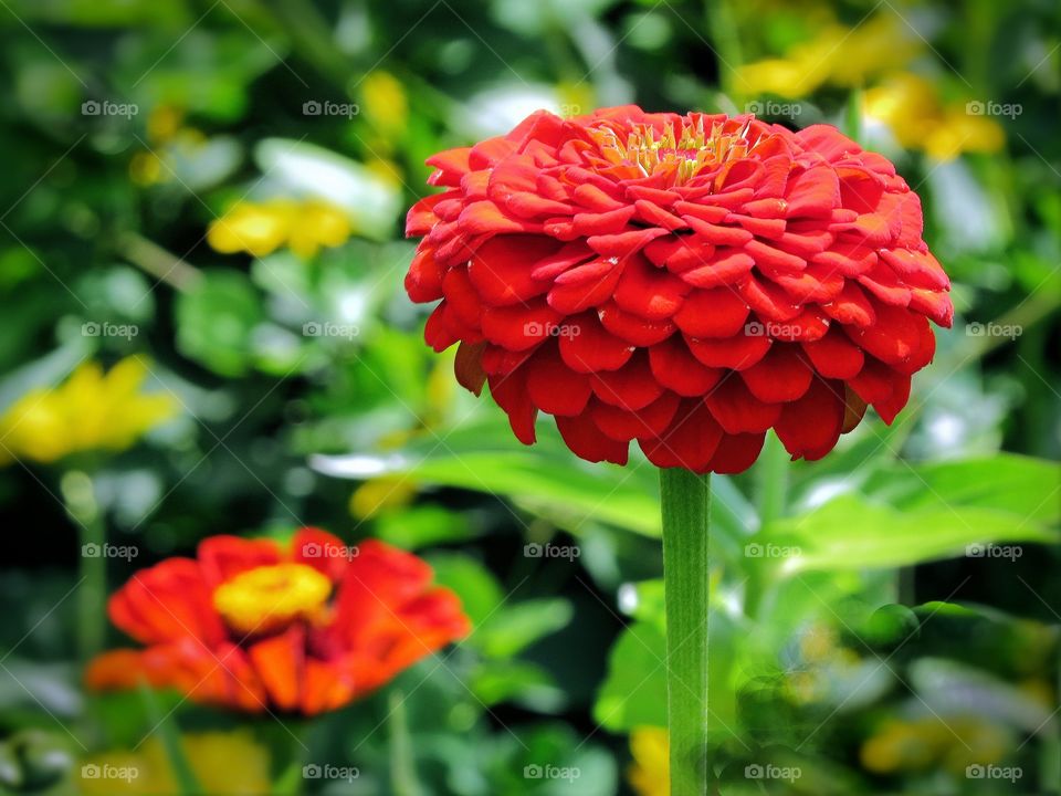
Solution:
{"label": "blurred yellow flower just below the white patch, upper left", "polygon": [[273,199],[239,202],[210,224],[207,243],[222,254],[242,251],[265,256],[286,245],[312,258],[321,247],[342,245],[351,233],[346,213],[334,205],[318,199]]}

